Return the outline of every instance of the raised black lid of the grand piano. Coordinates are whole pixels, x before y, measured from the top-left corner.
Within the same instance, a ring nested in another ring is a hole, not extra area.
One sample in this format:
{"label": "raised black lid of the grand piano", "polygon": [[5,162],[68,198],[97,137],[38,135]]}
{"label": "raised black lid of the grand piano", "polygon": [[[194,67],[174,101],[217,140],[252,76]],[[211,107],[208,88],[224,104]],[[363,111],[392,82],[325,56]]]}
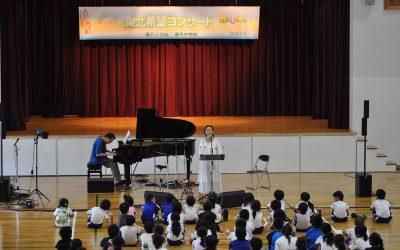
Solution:
{"label": "raised black lid of the grand piano", "polygon": [[156,109],[138,109],[136,139],[186,138],[196,132],[193,123],[156,116]]}

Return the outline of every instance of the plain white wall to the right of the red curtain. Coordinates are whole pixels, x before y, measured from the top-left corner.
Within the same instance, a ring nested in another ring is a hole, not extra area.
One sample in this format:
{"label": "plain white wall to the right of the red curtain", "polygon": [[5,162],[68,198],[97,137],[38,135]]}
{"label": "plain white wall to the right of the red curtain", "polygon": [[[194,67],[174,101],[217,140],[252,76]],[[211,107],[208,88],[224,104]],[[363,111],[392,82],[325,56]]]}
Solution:
{"label": "plain white wall to the right of the red curtain", "polygon": [[385,11],[383,2],[350,1],[350,127],[361,132],[370,100],[368,144],[400,163],[400,11]]}

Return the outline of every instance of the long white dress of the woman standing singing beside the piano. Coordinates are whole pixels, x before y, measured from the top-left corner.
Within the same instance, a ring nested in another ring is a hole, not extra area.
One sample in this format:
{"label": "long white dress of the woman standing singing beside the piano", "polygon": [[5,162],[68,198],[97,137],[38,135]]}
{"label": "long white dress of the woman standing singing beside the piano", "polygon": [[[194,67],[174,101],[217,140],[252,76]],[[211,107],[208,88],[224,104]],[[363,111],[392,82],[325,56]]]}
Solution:
{"label": "long white dress of the woman standing singing beside the piano", "polygon": [[[213,138],[212,140],[212,148],[211,150],[211,142],[207,142],[205,138],[201,139],[199,146],[199,155],[217,155],[222,154],[221,144],[218,139]],[[199,192],[203,194],[207,194],[211,191],[211,175],[210,171],[213,173],[213,191],[217,194],[221,193],[221,169],[219,167],[219,161],[200,161],[199,164],[199,174],[198,174],[198,182],[199,182]]]}

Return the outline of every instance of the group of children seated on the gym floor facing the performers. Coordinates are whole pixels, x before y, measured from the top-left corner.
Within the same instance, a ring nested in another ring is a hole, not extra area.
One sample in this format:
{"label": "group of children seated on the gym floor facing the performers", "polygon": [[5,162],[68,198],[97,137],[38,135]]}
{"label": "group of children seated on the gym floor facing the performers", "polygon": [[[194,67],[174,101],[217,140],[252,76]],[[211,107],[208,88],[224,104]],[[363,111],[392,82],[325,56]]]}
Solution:
{"label": "group of children seated on the gym floor facing the performers", "polygon": [[[392,219],[391,203],[385,199],[385,191],[376,191],[377,200],[371,205],[374,221],[388,223]],[[364,221],[365,217],[352,214],[355,227],[343,230],[341,234],[334,234],[329,223],[324,223],[321,210],[315,209],[310,201],[310,194],[303,192],[300,202],[295,207],[293,222],[286,215],[284,192],[276,190],[275,200],[267,207],[269,210],[270,232],[266,235],[268,247],[263,248],[261,238],[254,235],[262,234],[268,221],[261,210],[261,203],[255,200],[252,193],[246,193],[242,209],[235,218],[233,231],[226,230],[230,240],[229,249],[232,250],[295,250],[295,249],[383,249],[383,242],[378,233],[369,234]],[[166,249],[166,246],[180,246],[184,243],[186,224],[195,224],[195,231],[191,233],[190,241],[194,250],[216,249],[218,233],[224,233],[219,224],[227,220],[227,210],[217,204],[216,196],[209,196],[203,204],[203,212],[199,212],[193,196],[188,196],[183,206],[172,195],[166,197],[162,206],[155,202],[155,196],[149,193],[142,206],[141,221],[143,228],[136,224],[136,211],[132,197],[124,195],[124,202],[120,204],[120,214],[117,224],[113,224],[113,216],[108,210],[111,202],[102,200],[99,207],[87,211],[89,228],[100,228],[107,221],[108,237],[104,238],[100,246],[103,249],[122,249],[123,246],[137,246],[141,242],[141,249]],[[344,222],[349,217],[349,206],[343,201],[341,191],[333,193],[334,202],[331,205],[331,219],[334,222]],[[158,217],[161,211],[161,217]],[[57,243],[58,249],[71,245],[70,216],[68,200],[60,199],[59,208],[54,212],[55,224],[61,227],[62,240]],[[166,230],[164,230],[164,226]],[[292,227],[293,226],[293,227]],[[68,231],[69,229],[69,231]],[[68,231],[68,232],[65,232]],[[304,236],[296,238],[296,232],[304,232]],[[166,236],[166,238],[164,237]],[[69,238],[68,238],[69,236]],[[68,241],[69,240],[69,241]],[[81,247],[81,246],[80,246]],[[81,247],[82,249],[82,247]]]}

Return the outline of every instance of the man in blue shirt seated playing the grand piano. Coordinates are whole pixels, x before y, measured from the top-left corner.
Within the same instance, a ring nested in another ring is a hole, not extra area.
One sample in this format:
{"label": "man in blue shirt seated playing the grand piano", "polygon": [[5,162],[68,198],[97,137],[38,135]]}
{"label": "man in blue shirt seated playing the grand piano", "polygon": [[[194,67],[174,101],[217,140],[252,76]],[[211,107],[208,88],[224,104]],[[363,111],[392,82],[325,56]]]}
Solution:
{"label": "man in blue shirt seated playing the grand piano", "polygon": [[101,164],[106,168],[111,168],[112,175],[114,177],[114,183],[116,186],[121,186],[121,174],[119,172],[118,163],[113,162],[107,156],[114,156],[114,153],[107,150],[106,144],[109,144],[115,140],[113,133],[107,133],[104,136],[99,136],[93,142],[92,153],[90,155],[90,164]]}

